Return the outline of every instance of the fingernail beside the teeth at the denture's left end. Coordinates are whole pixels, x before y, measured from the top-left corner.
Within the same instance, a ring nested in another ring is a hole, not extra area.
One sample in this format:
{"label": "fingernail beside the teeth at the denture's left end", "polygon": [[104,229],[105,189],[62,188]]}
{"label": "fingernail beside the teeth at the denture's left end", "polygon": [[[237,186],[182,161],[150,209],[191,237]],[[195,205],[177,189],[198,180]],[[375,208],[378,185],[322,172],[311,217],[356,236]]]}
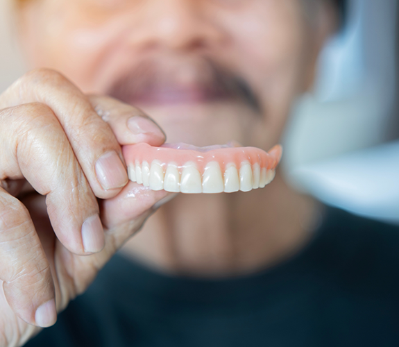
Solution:
{"label": "fingernail beside the teeth at the denture's left end", "polygon": [[96,175],[105,189],[124,187],[128,183],[128,173],[116,152],[103,154],[96,162]]}

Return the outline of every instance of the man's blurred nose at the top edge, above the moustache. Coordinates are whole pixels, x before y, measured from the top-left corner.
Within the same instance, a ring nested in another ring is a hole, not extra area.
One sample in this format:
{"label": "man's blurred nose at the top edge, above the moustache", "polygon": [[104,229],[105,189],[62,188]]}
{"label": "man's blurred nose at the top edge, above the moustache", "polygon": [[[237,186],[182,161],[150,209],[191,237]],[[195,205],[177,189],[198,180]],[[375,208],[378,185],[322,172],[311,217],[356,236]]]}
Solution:
{"label": "man's blurred nose at the top edge, above the moustache", "polygon": [[132,43],[139,49],[191,50],[220,44],[223,31],[202,6],[203,0],[146,0]]}

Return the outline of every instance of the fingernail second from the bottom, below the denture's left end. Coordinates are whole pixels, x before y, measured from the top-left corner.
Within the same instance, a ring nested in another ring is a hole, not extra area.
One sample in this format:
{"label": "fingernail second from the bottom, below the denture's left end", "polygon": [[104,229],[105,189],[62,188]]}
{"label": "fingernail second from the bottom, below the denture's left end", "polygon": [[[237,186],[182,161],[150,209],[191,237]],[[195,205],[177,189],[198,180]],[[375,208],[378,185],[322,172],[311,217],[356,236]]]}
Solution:
{"label": "fingernail second from the bottom, below the denture's left end", "polygon": [[104,230],[98,214],[87,218],[83,223],[82,241],[87,253],[97,253],[104,248]]}

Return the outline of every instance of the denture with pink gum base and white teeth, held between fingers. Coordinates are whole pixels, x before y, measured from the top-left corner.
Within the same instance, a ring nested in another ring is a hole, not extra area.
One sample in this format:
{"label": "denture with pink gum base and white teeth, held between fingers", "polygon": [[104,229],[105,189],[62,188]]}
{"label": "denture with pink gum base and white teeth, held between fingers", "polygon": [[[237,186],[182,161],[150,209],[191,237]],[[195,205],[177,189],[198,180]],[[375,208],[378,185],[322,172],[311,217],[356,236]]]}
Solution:
{"label": "denture with pink gum base and white teeth, held between fingers", "polygon": [[152,190],[212,194],[249,192],[271,183],[282,148],[134,144],[124,146],[123,153],[133,182]]}

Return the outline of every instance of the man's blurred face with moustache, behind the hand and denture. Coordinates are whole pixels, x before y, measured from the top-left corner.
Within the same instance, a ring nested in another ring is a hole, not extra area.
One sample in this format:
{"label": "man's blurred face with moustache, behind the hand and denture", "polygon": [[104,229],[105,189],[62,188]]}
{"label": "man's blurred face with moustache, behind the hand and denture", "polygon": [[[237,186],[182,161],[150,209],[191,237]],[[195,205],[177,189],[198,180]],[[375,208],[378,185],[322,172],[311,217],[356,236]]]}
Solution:
{"label": "man's blurred face with moustache, behind the hand and denture", "polygon": [[31,67],[142,108],[168,142],[269,149],[331,17],[312,0],[31,0],[22,35]]}

